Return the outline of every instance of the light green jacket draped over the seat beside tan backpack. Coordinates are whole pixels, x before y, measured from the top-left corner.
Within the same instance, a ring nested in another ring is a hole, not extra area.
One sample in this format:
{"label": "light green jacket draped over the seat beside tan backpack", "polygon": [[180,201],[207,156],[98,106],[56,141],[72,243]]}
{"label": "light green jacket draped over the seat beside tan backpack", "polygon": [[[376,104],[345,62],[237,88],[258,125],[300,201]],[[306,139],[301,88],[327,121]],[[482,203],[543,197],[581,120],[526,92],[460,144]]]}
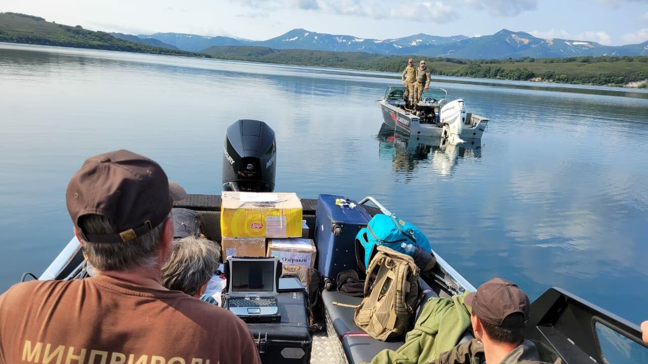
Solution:
{"label": "light green jacket draped over the seat beside tan backpack", "polygon": [[429,299],[405,343],[396,351],[382,350],[371,364],[427,363],[454,348],[470,327],[470,312],[463,299],[464,296]]}

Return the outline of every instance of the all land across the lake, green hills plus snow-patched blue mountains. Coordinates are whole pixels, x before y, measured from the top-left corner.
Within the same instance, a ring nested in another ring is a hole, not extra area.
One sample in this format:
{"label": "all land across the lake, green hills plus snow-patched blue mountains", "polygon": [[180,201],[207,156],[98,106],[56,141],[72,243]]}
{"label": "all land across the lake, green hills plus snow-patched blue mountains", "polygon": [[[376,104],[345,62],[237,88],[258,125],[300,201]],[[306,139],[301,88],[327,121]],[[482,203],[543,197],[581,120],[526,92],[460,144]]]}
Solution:
{"label": "all land across the lake, green hills plus snow-patched blue mountains", "polygon": [[[259,42],[226,37],[206,37],[194,34],[157,34],[163,38],[140,38],[129,34],[108,34],[87,30],[80,25],[57,24],[45,21],[43,17],[14,12],[0,13],[0,43],[26,43],[106,49],[110,51],[167,54],[199,58],[221,58],[249,62],[312,65],[369,71],[399,72],[410,54],[445,54],[448,58],[428,60],[433,74],[444,76],[495,78],[500,80],[535,80],[568,84],[619,85],[626,87],[648,87],[648,63],[646,56],[591,57],[601,52],[608,55],[627,53],[645,54],[648,42],[622,47],[603,47],[589,41],[542,40],[527,33],[502,30],[492,36],[480,38],[434,37],[425,34],[393,40],[362,40],[351,36],[318,34],[297,29],[292,33]],[[297,37],[297,38],[295,38]],[[462,39],[463,38],[463,39]],[[268,43],[277,48],[262,47]],[[209,44],[216,44],[203,48]],[[233,43],[234,45],[222,45]],[[363,45],[364,43],[364,45]],[[373,46],[371,45],[373,43]],[[246,44],[246,45],[240,45]],[[252,45],[251,45],[252,44]],[[194,47],[201,52],[183,51]],[[180,49],[174,49],[174,47]],[[325,50],[291,49],[294,47],[322,47]],[[363,48],[364,47],[364,48]],[[326,49],[336,49],[329,51]],[[361,49],[360,52],[340,51]],[[372,52],[367,52],[367,49]],[[379,51],[384,54],[377,53]],[[442,52],[442,53],[439,53]],[[544,58],[542,54],[564,53],[580,55],[571,59]],[[535,58],[524,57],[530,55]],[[511,56],[509,60],[476,60],[466,62],[457,57],[493,58]],[[417,57],[418,58],[418,57]],[[421,58],[430,58],[421,56]]]}

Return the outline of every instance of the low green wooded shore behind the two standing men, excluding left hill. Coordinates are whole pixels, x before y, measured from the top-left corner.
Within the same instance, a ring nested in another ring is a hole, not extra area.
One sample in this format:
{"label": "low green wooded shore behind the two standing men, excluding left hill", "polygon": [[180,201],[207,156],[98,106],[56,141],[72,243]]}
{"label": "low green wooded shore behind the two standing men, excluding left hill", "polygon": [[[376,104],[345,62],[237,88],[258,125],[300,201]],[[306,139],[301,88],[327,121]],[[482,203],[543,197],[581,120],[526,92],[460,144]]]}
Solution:
{"label": "low green wooded shore behind the two standing men, excluding left hill", "polygon": [[[382,56],[360,52],[306,51],[268,47],[210,47],[202,51],[215,58],[367,71],[400,72],[410,56]],[[413,56],[417,60],[421,56]],[[520,60],[461,60],[424,58],[432,74],[537,80],[564,84],[625,85],[648,79],[648,56],[529,58]]]}

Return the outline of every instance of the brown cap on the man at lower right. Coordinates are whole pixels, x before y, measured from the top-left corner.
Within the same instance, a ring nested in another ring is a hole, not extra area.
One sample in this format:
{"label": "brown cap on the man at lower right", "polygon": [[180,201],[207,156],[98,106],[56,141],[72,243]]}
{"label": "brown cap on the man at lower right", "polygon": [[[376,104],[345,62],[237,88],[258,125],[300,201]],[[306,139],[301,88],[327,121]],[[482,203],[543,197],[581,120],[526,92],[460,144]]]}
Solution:
{"label": "brown cap on the man at lower right", "polygon": [[502,326],[511,313],[522,313],[525,322],[529,318],[529,297],[515,283],[501,278],[491,279],[470,292],[464,303],[472,307],[475,316],[495,326]]}

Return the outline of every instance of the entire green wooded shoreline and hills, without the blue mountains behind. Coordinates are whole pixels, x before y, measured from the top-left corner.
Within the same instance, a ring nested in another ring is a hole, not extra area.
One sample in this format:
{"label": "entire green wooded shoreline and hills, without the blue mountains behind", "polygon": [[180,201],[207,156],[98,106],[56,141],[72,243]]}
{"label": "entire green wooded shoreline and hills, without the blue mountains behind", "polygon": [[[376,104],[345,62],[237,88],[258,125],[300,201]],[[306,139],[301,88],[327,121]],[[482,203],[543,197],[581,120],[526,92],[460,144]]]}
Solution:
{"label": "entire green wooded shoreline and hills, without the blue mountains behind", "polygon": [[[255,46],[210,47],[201,52],[179,51],[122,40],[107,32],[86,30],[78,25],[71,27],[45,21],[42,17],[11,12],[0,13],[0,41],[395,73],[400,73],[410,58],[363,52],[277,50]],[[648,87],[648,56],[523,57],[519,60],[411,57],[426,60],[432,74],[440,76]]]}

